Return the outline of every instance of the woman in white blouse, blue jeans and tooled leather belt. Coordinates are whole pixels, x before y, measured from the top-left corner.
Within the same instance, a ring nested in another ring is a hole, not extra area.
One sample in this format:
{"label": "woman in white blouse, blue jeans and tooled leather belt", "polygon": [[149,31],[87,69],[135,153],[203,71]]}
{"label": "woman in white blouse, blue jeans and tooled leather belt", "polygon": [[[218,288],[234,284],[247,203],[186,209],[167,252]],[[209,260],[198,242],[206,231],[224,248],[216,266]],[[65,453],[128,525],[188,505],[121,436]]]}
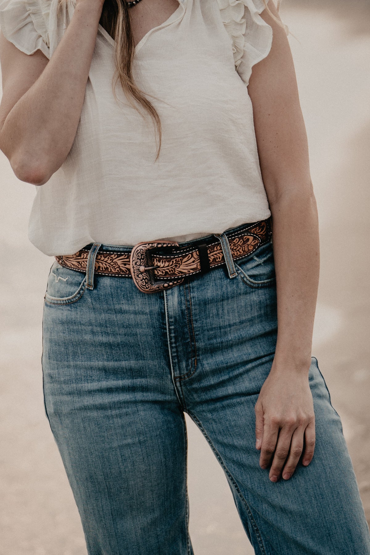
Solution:
{"label": "woman in white blouse, blue jeans and tooled leather belt", "polygon": [[55,256],[45,411],[88,552],[193,553],[187,412],[256,553],[370,553],[311,358],[317,211],[274,4],[0,0],[0,27],[0,147]]}

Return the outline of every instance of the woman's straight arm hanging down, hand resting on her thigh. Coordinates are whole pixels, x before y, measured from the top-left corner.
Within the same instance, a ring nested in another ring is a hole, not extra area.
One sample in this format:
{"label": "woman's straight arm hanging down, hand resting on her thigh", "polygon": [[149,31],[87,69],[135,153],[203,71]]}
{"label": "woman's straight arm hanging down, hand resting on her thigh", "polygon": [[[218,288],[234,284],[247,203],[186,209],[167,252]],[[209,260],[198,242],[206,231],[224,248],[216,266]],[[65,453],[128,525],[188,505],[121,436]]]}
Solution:
{"label": "woman's straight arm hanging down, hand resting on her thigh", "polygon": [[[268,7],[278,17],[270,0]],[[303,451],[308,465],[315,448],[311,365],[319,243],[308,145],[285,31],[265,10],[273,29],[268,56],[253,68],[252,100],[261,173],[272,214],[278,332],[275,358],[256,411],[256,447],[270,480],[292,475]]]}

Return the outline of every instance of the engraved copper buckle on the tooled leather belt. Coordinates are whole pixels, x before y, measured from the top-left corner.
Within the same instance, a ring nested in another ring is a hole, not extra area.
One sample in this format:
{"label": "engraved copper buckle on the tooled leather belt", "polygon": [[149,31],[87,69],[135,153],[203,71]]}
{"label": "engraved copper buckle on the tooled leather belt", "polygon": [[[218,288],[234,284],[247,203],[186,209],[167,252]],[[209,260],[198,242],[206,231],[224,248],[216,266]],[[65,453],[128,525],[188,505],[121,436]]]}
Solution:
{"label": "engraved copper buckle on the tooled leather belt", "polygon": [[168,245],[179,246],[179,243],[176,241],[149,241],[148,243],[141,241],[133,246],[130,255],[130,272],[134,284],[140,291],[155,293],[170,289],[184,281],[184,278],[176,281],[154,281],[153,270],[158,266],[153,266],[149,251]]}

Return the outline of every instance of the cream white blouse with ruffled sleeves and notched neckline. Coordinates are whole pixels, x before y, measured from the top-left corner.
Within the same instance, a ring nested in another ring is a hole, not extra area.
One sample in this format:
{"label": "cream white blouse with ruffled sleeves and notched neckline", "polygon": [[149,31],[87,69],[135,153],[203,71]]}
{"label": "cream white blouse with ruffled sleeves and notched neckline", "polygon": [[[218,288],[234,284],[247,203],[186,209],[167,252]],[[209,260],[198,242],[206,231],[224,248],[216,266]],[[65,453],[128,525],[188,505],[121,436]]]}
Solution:
{"label": "cream white blouse with ruffled sleeves and notched neckline", "polygon": [[[19,50],[50,58],[75,0],[0,0],[0,27]],[[252,65],[270,51],[262,0],[179,0],[136,45],[133,75],[161,118],[111,87],[114,40],[100,26],[77,133],[62,166],[36,187],[29,239],[47,255],[96,242],[187,241],[270,216],[252,104]],[[145,113],[145,112],[144,112]]]}

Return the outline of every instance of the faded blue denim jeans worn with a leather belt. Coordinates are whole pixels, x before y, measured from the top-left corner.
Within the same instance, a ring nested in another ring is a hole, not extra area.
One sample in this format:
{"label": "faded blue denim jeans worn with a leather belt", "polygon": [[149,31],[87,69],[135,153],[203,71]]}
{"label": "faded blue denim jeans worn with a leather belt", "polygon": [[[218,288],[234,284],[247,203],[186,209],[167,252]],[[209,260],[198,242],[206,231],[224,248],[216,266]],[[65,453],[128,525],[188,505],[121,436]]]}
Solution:
{"label": "faded blue denim jeans worn with a leather belt", "polygon": [[315,358],[313,460],[276,483],[260,468],[254,406],[277,335],[272,244],[234,264],[234,278],[219,266],[153,294],[98,275],[88,289],[84,274],[50,269],[45,411],[90,555],[193,553],[184,412],[224,469],[256,553],[370,554],[341,419]]}

